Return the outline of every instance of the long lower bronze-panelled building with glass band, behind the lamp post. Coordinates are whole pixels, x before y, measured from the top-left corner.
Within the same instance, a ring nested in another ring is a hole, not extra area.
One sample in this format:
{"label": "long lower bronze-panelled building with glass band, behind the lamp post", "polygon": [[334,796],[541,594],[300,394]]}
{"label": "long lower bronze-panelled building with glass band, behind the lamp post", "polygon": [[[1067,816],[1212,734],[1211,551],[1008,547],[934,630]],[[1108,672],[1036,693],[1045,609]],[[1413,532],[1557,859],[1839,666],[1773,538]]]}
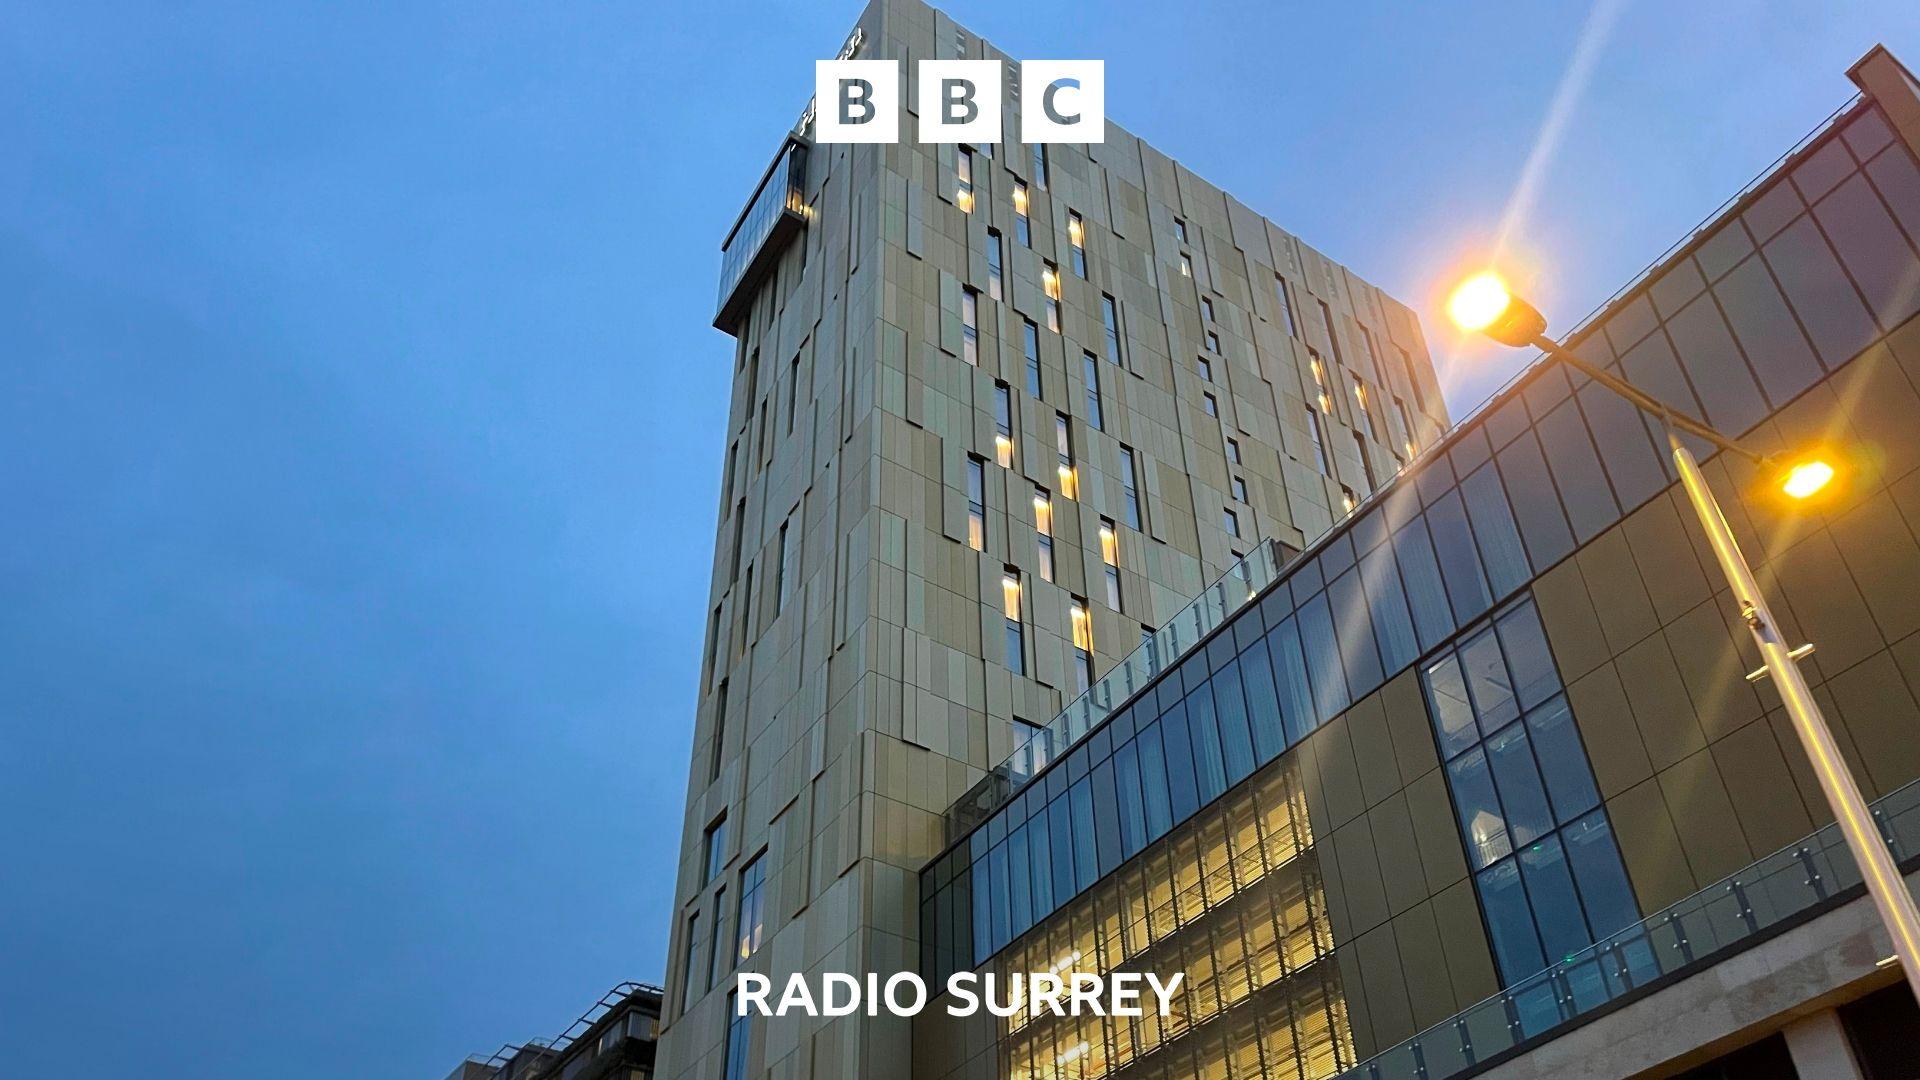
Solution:
{"label": "long lower bronze-panelled building with glass band, behind the lamp post", "polygon": [[[1914,874],[1920,85],[1880,48],[1851,77],[1567,340],[1843,463],[1818,503],[1705,473]],[[1657,421],[1536,363],[1233,586],[920,874],[929,980],[1183,972],[1173,1015],[935,1001],[916,1080],[1914,1076],[1920,1009]]]}

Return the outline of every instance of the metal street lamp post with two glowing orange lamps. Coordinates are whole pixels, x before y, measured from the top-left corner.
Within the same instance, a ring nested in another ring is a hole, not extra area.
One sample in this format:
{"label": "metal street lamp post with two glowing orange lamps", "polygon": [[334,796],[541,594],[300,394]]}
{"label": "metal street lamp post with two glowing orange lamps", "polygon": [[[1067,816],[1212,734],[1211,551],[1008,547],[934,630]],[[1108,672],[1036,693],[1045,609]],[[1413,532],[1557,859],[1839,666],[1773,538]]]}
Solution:
{"label": "metal street lamp post with two glowing orange lamps", "polygon": [[1572,350],[1549,338],[1548,321],[1540,309],[1507,292],[1498,275],[1482,273],[1463,282],[1448,300],[1448,315],[1463,331],[1484,332],[1500,344],[1517,348],[1536,346],[1661,419],[1667,429],[1667,444],[1672,448],[1674,465],[1680,471],[1680,484],[1686,488],[1688,502],[1693,503],[1693,513],[1699,515],[1699,525],[1707,532],[1707,542],[1720,563],[1720,573],[1726,575],[1726,584],[1734,590],[1734,601],[1740,603],[1740,617],[1745,621],[1747,630],[1753,632],[1753,642],[1766,659],[1766,667],[1747,678],[1759,680],[1770,676],[1780,690],[1788,717],[1793,719],[1793,732],[1799,734],[1807,761],[1812,765],[1814,776],[1820,778],[1820,790],[1826,794],[1834,821],[1839,824],[1839,832],[1847,838],[1847,847],[1860,867],[1866,892],[1874,897],[1880,922],[1893,938],[1893,955],[1907,974],[1907,986],[1920,999],[1920,911],[1914,911],[1914,897],[1907,892],[1907,880],[1893,863],[1893,855],[1887,853],[1887,844],[1874,824],[1874,815],[1868,811],[1866,799],[1860,798],[1860,786],[1853,780],[1853,771],[1847,769],[1845,759],[1841,759],[1839,748],[1834,744],[1834,732],[1828,728],[1826,717],[1820,715],[1820,705],[1807,688],[1807,678],[1801,676],[1799,657],[1812,651],[1812,648],[1803,646],[1793,650],[1780,638],[1780,625],[1774,621],[1772,611],[1768,611],[1759,582],[1753,580],[1753,569],[1747,567],[1745,555],[1740,553],[1734,532],[1726,527],[1726,517],[1720,513],[1720,503],[1715,502],[1705,477],[1699,473],[1699,463],[1678,432],[1684,430],[1699,436],[1763,469],[1776,471],[1782,475],[1782,490],[1791,498],[1809,498],[1824,488],[1834,479],[1834,467],[1820,459],[1784,465],[1768,455],[1755,454],[1713,427],[1672,411],[1665,402],[1632,382],[1590,365]]}

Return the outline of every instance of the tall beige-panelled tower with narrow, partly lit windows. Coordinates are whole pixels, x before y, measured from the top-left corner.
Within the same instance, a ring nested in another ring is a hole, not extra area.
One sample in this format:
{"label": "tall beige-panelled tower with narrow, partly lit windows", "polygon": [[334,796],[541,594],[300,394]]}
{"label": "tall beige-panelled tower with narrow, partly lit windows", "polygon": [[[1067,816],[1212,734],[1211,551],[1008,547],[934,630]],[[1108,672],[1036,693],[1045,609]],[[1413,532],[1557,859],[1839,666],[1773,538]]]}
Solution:
{"label": "tall beige-panelled tower with narrow, partly lit windows", "polygon": [[[845,52],[1012,61],[918,0]],[[947,811],[1446,427],[1405,306],[1116,125],[1020,142],[1012,73],[998,146],[803,119],[724,240],[666,1076],[899,1076],[906,1020],[737,1020],[733,972],[912,970]]]}

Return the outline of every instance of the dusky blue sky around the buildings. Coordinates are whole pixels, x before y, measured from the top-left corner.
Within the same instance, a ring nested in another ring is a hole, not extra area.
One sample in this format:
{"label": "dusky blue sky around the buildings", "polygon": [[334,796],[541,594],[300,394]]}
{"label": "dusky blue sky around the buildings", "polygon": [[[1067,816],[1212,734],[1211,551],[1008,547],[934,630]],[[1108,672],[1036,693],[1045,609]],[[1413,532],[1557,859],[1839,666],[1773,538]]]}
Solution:
{"label": "dusky blue sky around the buildings", "polygon": [[[1603,10],[1513,219],[1559,325],[1920,61],[1907,0],[1678,8]],[[856,12],[4,6],[12,1068],[438,1078],[659,978],[716,248]],[[1455,413],[1513,371],[1434,311],[1586,6],[1091,12],[954,6],[1421,307]]]}

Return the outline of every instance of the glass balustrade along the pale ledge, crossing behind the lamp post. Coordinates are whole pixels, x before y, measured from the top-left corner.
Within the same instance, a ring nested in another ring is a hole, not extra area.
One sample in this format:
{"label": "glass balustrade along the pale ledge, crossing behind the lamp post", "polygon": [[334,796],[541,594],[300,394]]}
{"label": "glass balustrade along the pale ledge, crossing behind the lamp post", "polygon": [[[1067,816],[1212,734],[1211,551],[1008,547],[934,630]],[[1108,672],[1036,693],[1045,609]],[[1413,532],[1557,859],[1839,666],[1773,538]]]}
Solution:
{"label": "glass balustrade along the pale ledge, crossing behind the lamp post", "polygon": [[[1874,803],[1903,871],[1920,863],[1920,780]],[[1820,913],[1860,886],[1860,871],[1826,828],[1644,919],[1548,970],[1340,1074],[1340,1080],[1471,1076],[1524,1045],[1582,1024],[1613,1001],[1678,982]]]}

